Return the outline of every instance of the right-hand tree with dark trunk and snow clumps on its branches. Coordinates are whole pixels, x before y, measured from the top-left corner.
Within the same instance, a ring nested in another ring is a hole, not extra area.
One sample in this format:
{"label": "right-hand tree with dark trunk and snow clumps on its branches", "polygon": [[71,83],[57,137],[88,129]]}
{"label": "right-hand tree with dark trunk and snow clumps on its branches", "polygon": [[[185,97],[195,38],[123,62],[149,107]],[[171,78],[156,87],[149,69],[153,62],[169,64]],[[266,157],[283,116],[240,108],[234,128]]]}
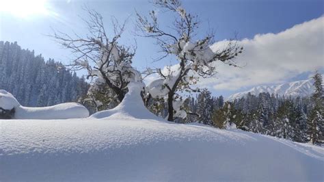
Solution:
{"label": "right-hand tree with dark trunk and snow clumps on its branches", "polygon": [[[157,44],[164,53],[159,60],[168,55],[175,55],[178,60],[178,67],[169,66],[166,70],[157,69],[160,79],[155,81],[148,90],[152,97],[164,97],[167,100],[167,120],[174,120],[176,117],[185,116],[183,110],[178,107],[177,99],[180,98],[179,90],[196,92],[191,86],[197,83],[200,77],[212,77],[216,73],[215,62],[223,62],[229,66],[237,66],[234,58],[242,53],[236,41],[230,40],[221,50],[212,50],[211,45],[214,35],[207,34],[202,40],[194,41],[200,22],[198,16],[186,12],[181,6],[180,0],[155,0],[152,2],[162,12],[176,14],[174,22],[169,27],[162,29],[158,22],[157,14],[151,11],[149,18],[137,13],[137,29],[139,35],[157,40]],[[158,83],[161,86],[157,86]],[[160,94],[157,94],[159,89]]]}

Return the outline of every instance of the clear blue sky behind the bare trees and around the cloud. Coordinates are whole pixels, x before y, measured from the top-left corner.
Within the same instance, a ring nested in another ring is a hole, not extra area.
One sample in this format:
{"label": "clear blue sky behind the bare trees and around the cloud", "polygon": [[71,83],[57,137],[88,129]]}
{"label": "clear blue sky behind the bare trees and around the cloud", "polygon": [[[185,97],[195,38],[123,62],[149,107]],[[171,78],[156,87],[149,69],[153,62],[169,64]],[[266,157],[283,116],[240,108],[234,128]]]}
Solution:
{"label": "clear blue sky behind the bare trees and around the cloud", "polygon": [[[0,0],[0,2],[2,1],[5,0]],[[152,58],[157,57],[157,51],[159,50],[158,47],[154,46],[154,40],[136,37],[131,32],[133,29],[133,21],[135,21],[135,10],[140,14],[148,14],[149,10],[155,9],[147,0],[36,1],[42,1],[48,12],[18,16],[11,10],[1,11],[0,8],[0,40],[17,41],[24,49],[33,49],[36,54],[42,53],[45,59],[51,57],[55,60],[68,63],[72,57],[70,52],[61,49],[58,44],[45,35],[51,34],[51,27],[67,33],[76,31],[81,35],[86,34],[87,29],[85,29],[85,24],[81,21],[80,16],[83,18],[87,17],[82,10],[82,6],[88,5],[103,15],[107,29],[109,29],[111,16],[116,16],[120,21],[131,16],[131,21],[128,23],[128,31],[125,32],[123,37],[123,43],[133,44],[134,39],[137,40],[138,49],[134,59],[134,66],[143,69],[146,66],[161,67],[170,62],[165,60],[152,64]],[[183,6],[187,9],[187,12],[199,15],[202,21],[199,36],[203,36],[208,30],[208,27],[211,27],[215,30],[216,40],[232,38],[236,33],[241,40],[253,40],[257,34],[278,34],[286,29],[290,29],[294,25],[319,18],[324,13],[323,2],[315,0],[188,0],[183,1]],[[161,17],[162,23],[171,23],[172,16],[159,14],[159,17]],[[323,21],[319,21],[319,23],[323,23]],[[321,27],[319,28],[321,29]],[[303,32],[300,34],[303,34]],[[320,34],[320,36],[320,40],[323,40],[323,34]],[[319,44],[319,47],[323,50],[323,44]],[[303,50],[302,48],[301,44],[301,50]],[[318,57],[314,59],[321,58],[324,58],[323,54],[319,53]],[[280,60],[273,60],[273,62],[280,64]],[[305,64],[310,64],[310,62],[306,62]],[[323,64],[317,65],[316,68],[323,68]],[[236,88],[215,88],[213,84],[219,83],[219,81],[213,82],[215,78],[210,79],[208,84],[206,83],[206,86],[209,86],[208,88],[211,88],[216,95],[228,95],[232,92],[237,92],[237,90],[245,90],[257,84],[305,79],[312,73],[314,68],[310,68],[309,70],[299,70],[296,68],[295,70],[289,70],[289,77],[269,79],[269,81],[264,82],[256,81],[255,83],[238,86]],[[271,74],[269,73],[269,75]],[[226,81],[226,79],[221,78],[221,75],[217,77],[219,80]],[[240,75],[237,75],[237,77],[240,77]]]}

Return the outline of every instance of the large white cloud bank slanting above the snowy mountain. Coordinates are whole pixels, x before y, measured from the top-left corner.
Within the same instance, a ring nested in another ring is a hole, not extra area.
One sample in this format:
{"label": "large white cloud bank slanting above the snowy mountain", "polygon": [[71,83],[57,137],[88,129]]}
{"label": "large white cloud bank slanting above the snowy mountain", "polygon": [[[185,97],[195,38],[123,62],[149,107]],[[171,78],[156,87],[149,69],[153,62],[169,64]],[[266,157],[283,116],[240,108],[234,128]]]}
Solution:
{"label": "large white cloud bank slanting above the snowy mountain", "polygon": [[[217,49],[223,42],[217,42]],[[200,86],[237,90],[260,84],[280,83],[301,73],[324,67],[324,16],[295,25],[278,34],[258,34],[245,39],[237,59],[243,68],[218,64],[217,78],[201,79]]]}

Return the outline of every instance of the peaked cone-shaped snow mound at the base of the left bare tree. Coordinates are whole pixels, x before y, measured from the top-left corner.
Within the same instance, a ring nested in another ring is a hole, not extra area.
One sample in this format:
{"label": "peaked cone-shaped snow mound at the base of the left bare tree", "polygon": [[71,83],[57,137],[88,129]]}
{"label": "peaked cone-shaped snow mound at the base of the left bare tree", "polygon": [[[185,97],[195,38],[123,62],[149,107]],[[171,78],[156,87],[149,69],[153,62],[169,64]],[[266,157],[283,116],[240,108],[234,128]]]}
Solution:
{"label": "peaked cone-shaped snow mound at the base of the left bare tree", "polygon": [[122,102],[115,108],[96,112],[90,118],[107,118],[107,117],[132,117],[139,119],[162,120],[146,109],[141,99],[141,90],[144,88],[143,83],[131,82],[128,85],[129,92],[125,95]]}

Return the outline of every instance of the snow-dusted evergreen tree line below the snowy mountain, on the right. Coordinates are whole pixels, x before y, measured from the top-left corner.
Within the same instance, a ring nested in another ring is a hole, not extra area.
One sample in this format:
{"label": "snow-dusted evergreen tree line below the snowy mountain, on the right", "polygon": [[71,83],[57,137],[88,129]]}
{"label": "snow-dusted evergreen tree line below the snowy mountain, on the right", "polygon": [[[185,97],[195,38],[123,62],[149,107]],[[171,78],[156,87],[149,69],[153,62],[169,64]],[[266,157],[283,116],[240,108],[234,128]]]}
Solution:
{"label": "snow-dusted evergreen tree line below the snowy mountain, on the right", "polygon": [[[220,129],[235,126],[295,142],[321,144],[324,141],[323,85],[319,73],[313,78],[316,91],[302,98],[260,93],[224,101],[223,96],[212,96],[204,89],[197,96],[183,99],[187,118],[177,118],[176,122],[200,122]],[[148,108],[157,116],[167,116],[167,105],[162,100],[150,102]]]}

